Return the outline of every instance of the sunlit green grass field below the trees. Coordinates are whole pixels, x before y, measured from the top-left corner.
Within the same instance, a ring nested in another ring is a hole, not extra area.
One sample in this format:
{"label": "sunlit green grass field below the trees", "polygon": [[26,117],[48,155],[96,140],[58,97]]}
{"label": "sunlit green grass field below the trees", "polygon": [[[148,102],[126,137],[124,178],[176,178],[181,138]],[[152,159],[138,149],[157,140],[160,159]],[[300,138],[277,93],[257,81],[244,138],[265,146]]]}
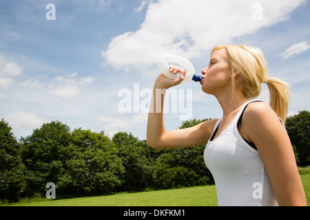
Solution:
{"label": "sunlit green grass field below the trees", "polygon": [[[301,175],[308,206],[310,205],[310,174]],[[10,206],[217,206],[215,186],[196,186],[151,192],[118,193],[76,199],[23,200]]]}

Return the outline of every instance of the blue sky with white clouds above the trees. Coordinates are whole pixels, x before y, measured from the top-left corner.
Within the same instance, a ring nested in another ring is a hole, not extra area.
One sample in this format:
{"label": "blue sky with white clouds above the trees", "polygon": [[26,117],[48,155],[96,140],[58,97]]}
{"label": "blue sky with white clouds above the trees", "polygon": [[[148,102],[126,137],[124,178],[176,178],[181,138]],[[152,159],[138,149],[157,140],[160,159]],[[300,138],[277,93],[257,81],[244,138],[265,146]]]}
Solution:
{"label": "blue sky with white clouds above the trees", "polygon": [[[0,119],[17,139],[58,120],[145,140],[158,57],[200,73],[228,43],[259,47],[291,85],[289,115],[309,111],[309,21],[306,0],[0,0]],[[223,114],[194,82],[169,89],[164,112],[167,130]]]}

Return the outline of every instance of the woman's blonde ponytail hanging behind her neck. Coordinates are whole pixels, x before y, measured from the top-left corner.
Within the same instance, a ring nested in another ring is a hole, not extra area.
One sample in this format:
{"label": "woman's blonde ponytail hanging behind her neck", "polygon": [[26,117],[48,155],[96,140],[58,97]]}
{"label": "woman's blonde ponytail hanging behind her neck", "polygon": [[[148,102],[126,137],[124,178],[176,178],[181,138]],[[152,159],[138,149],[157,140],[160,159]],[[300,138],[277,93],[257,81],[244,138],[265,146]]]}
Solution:
{"label": "woman's blonde ponytail hanging behind her neck", "polygon": [[267,78],[265,83],[269,88],[270,106],[285,124],[289,109],[289,95],[291,94],[288,89],[289,84],[276,78]]}

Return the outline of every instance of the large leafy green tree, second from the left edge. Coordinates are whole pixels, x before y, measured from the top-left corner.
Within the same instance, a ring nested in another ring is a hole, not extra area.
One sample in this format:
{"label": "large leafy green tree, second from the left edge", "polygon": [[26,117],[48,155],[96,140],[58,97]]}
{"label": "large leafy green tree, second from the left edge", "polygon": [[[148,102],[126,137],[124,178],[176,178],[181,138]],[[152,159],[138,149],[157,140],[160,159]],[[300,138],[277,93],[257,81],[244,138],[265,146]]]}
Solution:
{"label": "large leafy green tree, second from the left edge", "polygon": [[68,147],[71,133],[69,126],[61,122],[43,124],[32,135],[21,138],[21,157],[27,168],[27,195],[44,194],[48,182],[57,183],[70,159]]}

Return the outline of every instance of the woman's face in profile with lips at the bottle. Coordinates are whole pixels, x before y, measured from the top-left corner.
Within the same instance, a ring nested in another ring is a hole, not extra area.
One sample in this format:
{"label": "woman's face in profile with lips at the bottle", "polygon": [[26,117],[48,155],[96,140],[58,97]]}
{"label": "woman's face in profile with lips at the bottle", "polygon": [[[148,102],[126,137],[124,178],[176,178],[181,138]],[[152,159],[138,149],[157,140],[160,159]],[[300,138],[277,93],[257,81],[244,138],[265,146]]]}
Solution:
{"label": "woman's face in profile with lips at the bottle", "polygon": [[209,61],[209,65],[201,71],[203,80],[201,89],[207,94],[216,94],[223,91],[224,87],[231,86],[231,74],[227,63],[226,49],[214,52]]}

